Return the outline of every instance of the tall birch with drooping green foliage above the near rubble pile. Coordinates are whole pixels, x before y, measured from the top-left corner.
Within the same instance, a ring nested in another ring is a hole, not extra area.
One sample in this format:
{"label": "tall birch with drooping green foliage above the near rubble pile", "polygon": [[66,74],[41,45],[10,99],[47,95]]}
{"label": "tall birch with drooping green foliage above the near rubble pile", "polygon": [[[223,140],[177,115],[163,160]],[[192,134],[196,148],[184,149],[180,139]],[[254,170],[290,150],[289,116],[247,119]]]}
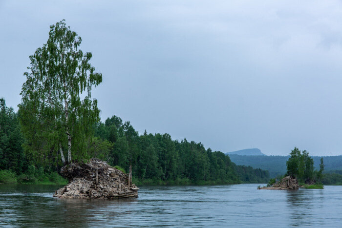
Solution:
{"label": "tall birch with drooping green foliage above the near rubble pile", "polygon": [[63,164],[83,158],[93,124],[100,120],[90,92],[102,75],[89,63],[91,53],[79,49],[81,41],[63,20],[50,26],[47,42],[30,56],[19,114],[24,149],[32,159],[43,162],[56,151]]}

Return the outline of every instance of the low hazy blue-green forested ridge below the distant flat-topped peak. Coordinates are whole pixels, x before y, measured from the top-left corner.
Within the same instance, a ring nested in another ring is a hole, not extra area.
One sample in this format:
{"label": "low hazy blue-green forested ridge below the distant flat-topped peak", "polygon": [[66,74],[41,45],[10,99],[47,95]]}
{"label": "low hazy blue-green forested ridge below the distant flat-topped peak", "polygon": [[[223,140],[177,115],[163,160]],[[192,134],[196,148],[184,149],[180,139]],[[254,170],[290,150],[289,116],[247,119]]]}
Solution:
{"label": "low hazy blue-green forested ridge below the distant flat-topped peak", "polygon": [[[261,168],[268,170],[271,177],[283,175],[286,173],[286,161],[290,156],[248,156],[229,154],[232,162],[236,165],[252,166],[253,168]],[[315,168],[319,169],[319,156],[312,156]],[[342,170],[342,155],[340,156],[323,156],[325,171]]]}

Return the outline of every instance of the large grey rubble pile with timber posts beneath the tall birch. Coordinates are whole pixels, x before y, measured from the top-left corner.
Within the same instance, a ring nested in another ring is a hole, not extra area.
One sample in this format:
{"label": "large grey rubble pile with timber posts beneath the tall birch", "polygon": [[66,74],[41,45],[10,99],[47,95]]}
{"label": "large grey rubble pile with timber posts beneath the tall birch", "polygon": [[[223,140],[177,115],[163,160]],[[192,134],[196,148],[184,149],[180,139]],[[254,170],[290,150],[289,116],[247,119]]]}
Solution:
{"label": "large grey rubble pile with timber posts beneath the tall birch", "polygon": [[88,163],[71,163],[62,167],[61,174],[69,184],[58,189],[54,197],[76,199],[136,198],[139,188],[131,183],[129,174],[96,158]]}

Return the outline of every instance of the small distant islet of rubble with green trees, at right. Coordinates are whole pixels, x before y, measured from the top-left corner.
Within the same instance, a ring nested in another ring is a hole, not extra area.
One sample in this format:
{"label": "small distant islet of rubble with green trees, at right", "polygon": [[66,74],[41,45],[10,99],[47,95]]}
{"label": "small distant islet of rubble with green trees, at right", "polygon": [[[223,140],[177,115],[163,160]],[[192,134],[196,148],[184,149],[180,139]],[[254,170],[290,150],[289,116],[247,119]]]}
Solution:
{"label": "small distant islet of rubble with green trees, at right", "polygon": [[[286,162],[287,173],[282,178],[271,179],[267,186],[258,189],[270,190],[298,190],[299,187],[322,189],[322,172],[324,171],[323,158],[320,170],[314,170],[314,161],[306,150],[300,151],[295,147]],[[280,179],[279,181],[277,179]]]}

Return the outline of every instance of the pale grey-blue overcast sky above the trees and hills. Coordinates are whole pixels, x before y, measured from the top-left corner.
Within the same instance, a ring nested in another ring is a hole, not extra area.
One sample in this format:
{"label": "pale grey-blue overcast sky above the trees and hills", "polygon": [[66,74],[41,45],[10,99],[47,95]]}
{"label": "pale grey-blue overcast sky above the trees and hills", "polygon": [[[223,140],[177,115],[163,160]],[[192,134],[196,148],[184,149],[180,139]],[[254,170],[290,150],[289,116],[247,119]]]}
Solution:
{"label": "pale grey-blue overcast sky above the trees and hills", "polygon": [[101,118],[229,152],[342,154],[342,2],[0,0],[0,97],[66,20],[103,83]]}

